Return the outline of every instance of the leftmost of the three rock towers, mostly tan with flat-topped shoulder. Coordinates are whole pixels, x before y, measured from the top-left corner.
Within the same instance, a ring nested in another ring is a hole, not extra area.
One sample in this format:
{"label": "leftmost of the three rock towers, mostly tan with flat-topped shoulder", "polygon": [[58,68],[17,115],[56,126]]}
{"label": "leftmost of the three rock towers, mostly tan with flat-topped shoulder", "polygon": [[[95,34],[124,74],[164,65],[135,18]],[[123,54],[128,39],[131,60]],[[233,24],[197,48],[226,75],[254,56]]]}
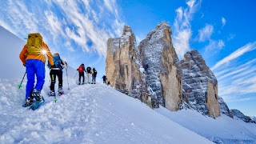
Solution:
{"label": "leftmost of the three rock towers, mostly tan with flat-topped shoulder", "polygon": [[139,58],[136,39],[130,26],[124,26],[120,38],[108,39],[106,78],[110,86],[147,103],[150,98]]}

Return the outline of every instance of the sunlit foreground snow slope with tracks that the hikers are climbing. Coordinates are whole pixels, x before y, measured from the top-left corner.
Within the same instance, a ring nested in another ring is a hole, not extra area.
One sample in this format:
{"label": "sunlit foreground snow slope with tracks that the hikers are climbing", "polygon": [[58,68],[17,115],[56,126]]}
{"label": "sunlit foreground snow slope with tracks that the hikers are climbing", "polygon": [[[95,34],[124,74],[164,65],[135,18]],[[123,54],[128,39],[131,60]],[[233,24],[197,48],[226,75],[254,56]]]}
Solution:
{"label": "sunlit foreground snow slope with tracks that the hikers are climbing", "polygon": [[39,110],[22,107],[25,88],[0,79],[1,143],[210,143],[144,103],[103,84],[77,86]]}

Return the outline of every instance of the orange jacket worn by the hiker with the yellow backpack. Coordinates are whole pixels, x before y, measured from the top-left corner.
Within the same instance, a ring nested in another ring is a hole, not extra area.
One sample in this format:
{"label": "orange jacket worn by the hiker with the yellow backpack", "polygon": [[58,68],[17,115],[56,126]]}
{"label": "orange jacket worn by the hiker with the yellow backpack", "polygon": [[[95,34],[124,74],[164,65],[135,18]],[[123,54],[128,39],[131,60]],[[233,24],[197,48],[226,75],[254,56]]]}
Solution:
{"label": "orange jacket worn by the hiker with the yellow backpack", "polygon": [[[50,66],[54,66],[53,55],[50,53],[48,46],[44,42],[42,42],[42,50],[47,51],[46,55],[48,57],[48,61],[50,62]],[[38,59],[38,60],[41,60],[42,62],[46,62],[46,58],[44,57],[43,54],[40,54],[40,55],[27,54],[26,45],[23,47],[21,54],[19,54],[19,58],[22,60],[24,65],[26,65],[27,59]]]}

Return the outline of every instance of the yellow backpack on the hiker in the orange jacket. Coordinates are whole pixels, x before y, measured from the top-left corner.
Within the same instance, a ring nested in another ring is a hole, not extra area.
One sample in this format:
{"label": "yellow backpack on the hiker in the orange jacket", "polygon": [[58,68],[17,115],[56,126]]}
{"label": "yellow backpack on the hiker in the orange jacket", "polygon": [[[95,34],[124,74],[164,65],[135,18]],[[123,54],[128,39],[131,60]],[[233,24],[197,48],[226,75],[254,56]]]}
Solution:
{"label": "yellow backpack on the hiker in the orange jacket", "polygon": [[42,54],[42,36],[39,33],[29,34],[27,37],[26,51],[30,55]]}

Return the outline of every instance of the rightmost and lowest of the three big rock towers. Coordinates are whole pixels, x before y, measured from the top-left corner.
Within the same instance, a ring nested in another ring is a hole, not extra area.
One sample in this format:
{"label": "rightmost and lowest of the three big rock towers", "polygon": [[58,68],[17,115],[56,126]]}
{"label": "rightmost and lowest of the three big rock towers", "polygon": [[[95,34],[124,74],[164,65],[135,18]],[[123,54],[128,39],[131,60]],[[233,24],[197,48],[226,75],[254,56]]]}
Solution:
{"label": "rightmost and lowest of the three big rock towers", "polygon": [[182,65],[183,96],[190,106],[213,118],[220,116],[218,82],[197,50],[184,55]]}

